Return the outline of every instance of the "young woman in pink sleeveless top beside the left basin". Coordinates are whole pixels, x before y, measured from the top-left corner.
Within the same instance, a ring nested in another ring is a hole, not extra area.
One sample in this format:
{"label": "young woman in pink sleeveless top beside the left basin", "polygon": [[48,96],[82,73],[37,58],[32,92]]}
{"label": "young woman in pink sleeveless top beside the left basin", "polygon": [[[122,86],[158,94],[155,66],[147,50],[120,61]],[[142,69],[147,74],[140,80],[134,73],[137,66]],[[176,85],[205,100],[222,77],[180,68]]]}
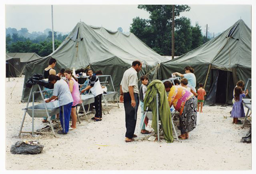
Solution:
{"label": "young woman in pink sleeveless top beside the left basin", "polygon": [[79,86],[76,77],[74,77],[70,70],[66,70],[64,72],[65,77],[68,79],[68,86],[73,98],[73,104],[71,107],[71,118],[72,118],[72,127],[73,129],[76,129],[76,106],[80,103],[82,103],[80,92],[79,92]]}

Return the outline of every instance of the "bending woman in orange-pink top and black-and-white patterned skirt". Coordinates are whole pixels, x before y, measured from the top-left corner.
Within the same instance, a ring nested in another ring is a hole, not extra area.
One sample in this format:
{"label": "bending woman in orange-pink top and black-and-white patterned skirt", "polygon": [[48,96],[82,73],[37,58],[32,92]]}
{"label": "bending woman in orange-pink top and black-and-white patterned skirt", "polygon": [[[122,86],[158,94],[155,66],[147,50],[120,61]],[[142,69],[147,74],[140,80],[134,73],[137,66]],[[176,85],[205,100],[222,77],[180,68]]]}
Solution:
{"label": "bending woman in orange-pink top and black-and-white patterned skirt", "polygon": [[188,139],[188,132],[196,128],[196,97],[182,86],[174,86],[170,81],[164,82],[166,92],[169,92],[170,107],[180,112],[180,139]]}

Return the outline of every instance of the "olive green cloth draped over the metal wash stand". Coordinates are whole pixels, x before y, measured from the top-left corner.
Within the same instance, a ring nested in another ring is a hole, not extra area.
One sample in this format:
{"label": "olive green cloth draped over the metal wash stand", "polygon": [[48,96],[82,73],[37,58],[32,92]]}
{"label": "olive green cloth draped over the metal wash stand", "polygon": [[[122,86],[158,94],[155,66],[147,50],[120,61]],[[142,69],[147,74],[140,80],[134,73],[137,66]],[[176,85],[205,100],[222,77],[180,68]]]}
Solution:
{"label": "olive green cloth draped over the metal wash stand", "polygon": [[172,120],[171,111],[165,91],[165,87],[162,81],[153,80],[147,87],[146,96],[144,98],[144,110],[150,108],[152,110],[152,128],[157,132],[157,117],[156,117],[156,93],[159,95],[159,119],[161,120],[164,138],[168,142],[173,141],[172,136]]}

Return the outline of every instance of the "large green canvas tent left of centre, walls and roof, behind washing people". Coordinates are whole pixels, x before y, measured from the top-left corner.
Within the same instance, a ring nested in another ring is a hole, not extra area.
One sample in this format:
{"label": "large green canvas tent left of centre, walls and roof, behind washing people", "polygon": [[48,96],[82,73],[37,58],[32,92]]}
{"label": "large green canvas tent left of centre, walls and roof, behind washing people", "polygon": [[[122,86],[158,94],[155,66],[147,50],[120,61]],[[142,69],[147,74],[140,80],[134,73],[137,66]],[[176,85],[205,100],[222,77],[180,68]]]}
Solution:
{"label": "large green canvas tent left of centre, walls and roof, behind washing people", "polygon": [[[50,57],[57,60],[54,68],[57,72],[61,68],[82,70],[90,66],[93,71],[101,70],[103,74],[111,75],[116,91],[119,90],[124,71],[131,67],[134,60],[143,63],[142,71],[138,73],[139,77],[147,73],[153,77],[159,63],[168,60],[132,33],[126,35],[119,31],[112,32],[103,27],[78,22],[52,54],[27,64],[24,82],[34,73],[43,73]],[[113,89],[109,87],[109,90]],[[24,84],[22,102],[27,102],[28,95],[29,89]],[[35,95],[35,101],[39,100],[40,97]]]}

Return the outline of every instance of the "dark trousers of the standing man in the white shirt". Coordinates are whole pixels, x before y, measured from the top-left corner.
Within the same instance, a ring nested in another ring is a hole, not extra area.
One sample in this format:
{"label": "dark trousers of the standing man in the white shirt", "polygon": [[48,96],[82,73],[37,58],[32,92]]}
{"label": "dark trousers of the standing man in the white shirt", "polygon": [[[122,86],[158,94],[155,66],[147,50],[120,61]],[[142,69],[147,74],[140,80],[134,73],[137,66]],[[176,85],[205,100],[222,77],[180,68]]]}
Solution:
{"label": "dark trousers of the standing man in the white shirt", "polygon": [[136,102],[135,108],[132,107],[131,102],[131,96],[130,93],[124,93],[124,110],[125,110],[125,127],[126,127],[126,133],[125,137],[132,138],[136,121],[137,121],[137,111],[139,107],[139,95],[137,93],[134,93],[134,100]]}

